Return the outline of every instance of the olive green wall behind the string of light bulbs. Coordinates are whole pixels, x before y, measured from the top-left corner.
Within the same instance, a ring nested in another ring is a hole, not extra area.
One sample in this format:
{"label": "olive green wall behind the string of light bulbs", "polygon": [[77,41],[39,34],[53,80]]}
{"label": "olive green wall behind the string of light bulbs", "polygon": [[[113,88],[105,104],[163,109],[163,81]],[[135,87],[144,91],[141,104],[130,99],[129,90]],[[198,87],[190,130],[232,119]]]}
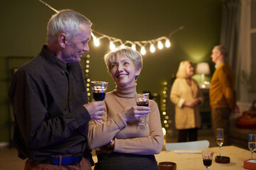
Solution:
{"label": "olive green wall behind the string of light bulbs", "polygon": [[[72,8],[87,16],[94,23],[94,30],[122,40],[151,40],[172,35],[172,47],[148,52],[143,56],[143,71],[138,77],[138,91],[160,94],[162,82],[170,81],[177,72],[179,62],[211,63],[211,49],[217,45],[221,30],[221,0],[45,0],[57,10]],[[37,0],[1,1],[0,41],[0,142],[8,141],[8,86],[12,67],[20,67],[23,59],[33,57],[45,43],[46,26],[52,14],[50,8]],[[92,41],[91,41],[92,42]],[[106,72],[103,56],[108,50],[108,40],[101,40],[99,47],[90,42],[91,80],[108,81],[111,91],[114,84]],[[148,47],[148,46],[147,46]],[[10,67],[10,69],[8,69]],[[211,63],[213,71],[213,64]]]}

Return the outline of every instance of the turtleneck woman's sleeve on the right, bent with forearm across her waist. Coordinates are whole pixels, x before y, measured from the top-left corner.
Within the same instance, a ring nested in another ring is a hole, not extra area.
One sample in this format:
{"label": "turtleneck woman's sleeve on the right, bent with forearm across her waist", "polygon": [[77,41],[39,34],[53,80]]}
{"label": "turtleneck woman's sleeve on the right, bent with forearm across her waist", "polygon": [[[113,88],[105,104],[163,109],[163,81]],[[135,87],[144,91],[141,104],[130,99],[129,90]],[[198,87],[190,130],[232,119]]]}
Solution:
{"label": "turtleneck woman's sleeve on the right, bent with forearm across her waist", "polygon": [[163,133],[160,121],[160,112],[155,101],[150,101],[149,113],[150,134],[147,137],[128,139],[115,138],[114,152],[131,154],[159,154],[162,150]]}

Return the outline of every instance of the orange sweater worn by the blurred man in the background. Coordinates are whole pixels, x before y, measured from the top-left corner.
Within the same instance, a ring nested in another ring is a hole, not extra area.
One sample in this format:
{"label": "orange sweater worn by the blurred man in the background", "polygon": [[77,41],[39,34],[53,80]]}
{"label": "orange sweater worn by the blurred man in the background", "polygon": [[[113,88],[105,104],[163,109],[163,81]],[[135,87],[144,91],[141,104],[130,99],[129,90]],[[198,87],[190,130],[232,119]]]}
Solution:
{"label": "orange sweater worn by the blurred man in the background", "polygon": [[210,87],[211,108],[235,108],[235,74],[227,62],[222,62],[213,73]]}

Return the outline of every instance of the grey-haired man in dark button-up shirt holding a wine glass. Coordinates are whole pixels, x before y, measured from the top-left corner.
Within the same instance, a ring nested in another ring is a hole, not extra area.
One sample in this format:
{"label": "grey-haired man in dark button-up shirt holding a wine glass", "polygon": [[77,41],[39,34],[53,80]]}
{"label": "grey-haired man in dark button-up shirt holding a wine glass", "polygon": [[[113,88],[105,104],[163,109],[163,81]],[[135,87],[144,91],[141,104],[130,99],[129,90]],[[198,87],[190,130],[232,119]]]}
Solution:
{"label": "grey-haired man in dark button-up shirt holding a wine glass", "polygon": [[91,22],[63,10],[50,18],[47,45],[14,74],[9,89],[18,156],[25,169],[91,169],[88,123],[104,101],[88,103],[80,58],[89,51]]}

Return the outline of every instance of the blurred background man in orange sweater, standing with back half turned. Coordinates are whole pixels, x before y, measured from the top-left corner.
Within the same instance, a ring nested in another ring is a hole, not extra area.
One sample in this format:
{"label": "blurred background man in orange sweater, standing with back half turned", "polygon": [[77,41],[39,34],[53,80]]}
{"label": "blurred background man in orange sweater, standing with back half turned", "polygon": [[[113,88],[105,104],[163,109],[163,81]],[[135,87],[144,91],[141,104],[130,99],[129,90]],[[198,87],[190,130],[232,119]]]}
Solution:
{"label": "blurred background man in orange sweater, standing with back half turned", "polygon": [[211,79],[210,104],[213,131],[216,136],[216,129],[223,128],[224,144],[230,145],[229,138],[229,117],[230,113],[238,112],[235,96],[235,74],[228,65],[226,59],[228,50],[222,45],[213,47],[211,58],[215,65],[215,72]]}

